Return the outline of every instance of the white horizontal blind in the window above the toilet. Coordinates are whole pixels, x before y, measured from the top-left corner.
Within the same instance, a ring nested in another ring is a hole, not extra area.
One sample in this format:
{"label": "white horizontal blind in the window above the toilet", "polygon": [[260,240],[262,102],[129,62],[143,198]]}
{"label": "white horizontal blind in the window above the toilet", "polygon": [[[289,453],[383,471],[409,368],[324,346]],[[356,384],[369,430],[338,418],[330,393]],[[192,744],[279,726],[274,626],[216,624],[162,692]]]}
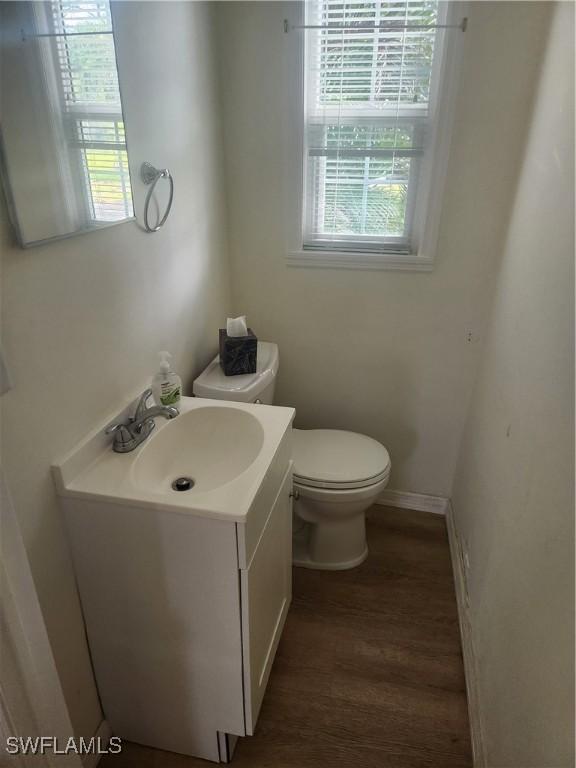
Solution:
{"label": "white horizontal blind in the window above the toilet", "polygon": [[306,23],[304,248],[409,253],[438,3],[311,0]]}

